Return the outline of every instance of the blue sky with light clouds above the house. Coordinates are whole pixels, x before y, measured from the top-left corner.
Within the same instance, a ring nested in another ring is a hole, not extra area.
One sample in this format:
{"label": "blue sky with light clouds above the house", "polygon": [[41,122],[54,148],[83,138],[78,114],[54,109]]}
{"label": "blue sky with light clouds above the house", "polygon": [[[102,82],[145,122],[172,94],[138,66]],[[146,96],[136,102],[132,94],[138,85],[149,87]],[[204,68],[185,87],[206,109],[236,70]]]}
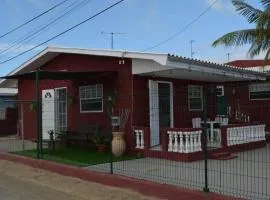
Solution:
{"label": "blue sky with light clouds above the house", "polygon": [[[37,16],[62,0],[0,0],[0,35]],[[212,47],[214,40],[225,33],[252,28],[246,19],[239,15],[230,0],[218,0],[208,12],[192,23],[215,0],[125,0],[104,14],[88,21],[76,29],[54,39],[18,58],[0,64],[0,76],[19,67],[29,58],[47,46],[78,47],[91,49],[110,49],[110,35],[102,32],[117,32],[114,37],[115,50],[143,51],[177,34],[162,45],[149,49],[150,52],[172,53],[217,63],[230,60],[248,59],[248,46],[224,48]],[[117,0],[67,0],[64,4],[34,20],[32,23],[0,38],[0,62],[40,44],[69,27],[91,17],[97,12],[117,2]],[[253,6],[260,6],[259,0],[247,0]],[[71,6],[76,9],[52,25],[48,22],[63,14]],[[24,41],[20,40],[34,33],[42,26],[47,27],[38,35]],[[10,48],[14,46],[13,48]],[[7,48],[10,48],[7,50]],[[2,52],[4,51],[4,52]],[[2,52],[2,53],[1,53]],[[257,58],[262,58],[259,56]]]}

